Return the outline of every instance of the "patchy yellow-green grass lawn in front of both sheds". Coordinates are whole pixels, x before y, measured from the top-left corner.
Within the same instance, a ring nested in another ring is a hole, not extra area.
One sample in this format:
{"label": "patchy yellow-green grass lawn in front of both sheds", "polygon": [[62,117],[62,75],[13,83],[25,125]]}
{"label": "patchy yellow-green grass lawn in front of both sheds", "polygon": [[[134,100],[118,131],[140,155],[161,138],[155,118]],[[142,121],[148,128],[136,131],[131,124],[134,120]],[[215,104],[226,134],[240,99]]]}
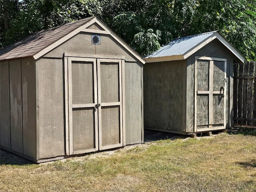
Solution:
{"label": "patchy yellow-green grass lawn in front of both sheds", "polygon": [[255,192],[256,132],[159,140],[40,165],[1,162],[1,192]]}

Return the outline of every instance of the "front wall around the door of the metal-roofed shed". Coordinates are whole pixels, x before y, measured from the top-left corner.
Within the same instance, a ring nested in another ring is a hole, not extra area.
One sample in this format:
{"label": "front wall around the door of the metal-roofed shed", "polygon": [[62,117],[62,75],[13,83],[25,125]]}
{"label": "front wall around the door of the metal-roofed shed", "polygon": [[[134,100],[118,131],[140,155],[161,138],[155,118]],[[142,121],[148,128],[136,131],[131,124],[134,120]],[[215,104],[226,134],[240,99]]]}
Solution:
{"label": "front wall around the door of the metal-roofed shed", "polygon": [[194,129],[194,62],[195,56],[206,56],[227,59],[227,82],[226,82],[226,127],[230,127],[230,79],[233,74],[233,56],[232,53],[221,43],[215,39],[206,46],[192,54],[187,58],[187,121],[186,132],[193,132]]}

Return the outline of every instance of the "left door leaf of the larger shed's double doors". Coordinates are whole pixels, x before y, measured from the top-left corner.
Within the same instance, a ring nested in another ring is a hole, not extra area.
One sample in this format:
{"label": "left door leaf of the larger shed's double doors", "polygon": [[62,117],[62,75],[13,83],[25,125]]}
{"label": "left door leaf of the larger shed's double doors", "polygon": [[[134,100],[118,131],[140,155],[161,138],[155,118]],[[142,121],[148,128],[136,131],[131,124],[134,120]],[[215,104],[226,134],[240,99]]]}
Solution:
{"label": "left door leaf of the larger shed's double doors", "polygon": [[98,150],[96,59],[68,59],[69,153]]}

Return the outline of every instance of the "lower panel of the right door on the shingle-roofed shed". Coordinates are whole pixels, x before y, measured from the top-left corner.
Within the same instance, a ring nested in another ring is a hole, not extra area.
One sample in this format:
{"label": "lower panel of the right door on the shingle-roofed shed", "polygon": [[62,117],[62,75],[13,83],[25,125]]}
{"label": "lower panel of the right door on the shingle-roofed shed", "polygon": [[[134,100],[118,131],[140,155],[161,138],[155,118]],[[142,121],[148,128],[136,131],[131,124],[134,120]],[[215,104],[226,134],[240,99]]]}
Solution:
{"label": "lower panel of the right door on the shingle-roofed shed", "polygon": [[120,143],[119,106],[101,108],[102,146]]}

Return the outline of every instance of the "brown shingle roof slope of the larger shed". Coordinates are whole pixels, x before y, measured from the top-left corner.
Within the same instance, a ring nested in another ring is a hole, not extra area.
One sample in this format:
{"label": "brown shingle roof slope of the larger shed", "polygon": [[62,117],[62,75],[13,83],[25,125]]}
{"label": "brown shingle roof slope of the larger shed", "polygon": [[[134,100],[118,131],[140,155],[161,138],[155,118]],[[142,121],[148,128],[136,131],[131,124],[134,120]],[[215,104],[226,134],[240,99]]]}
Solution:
{"label": "brown shingle roof slope of the larger shed", "polygon": [[41,30],[26,36],[22,40],[0,50],[0,60],[34,56],[50,44],[66,36],[76,28],[87,23],[93,17],[70,22],[47,30]]}

